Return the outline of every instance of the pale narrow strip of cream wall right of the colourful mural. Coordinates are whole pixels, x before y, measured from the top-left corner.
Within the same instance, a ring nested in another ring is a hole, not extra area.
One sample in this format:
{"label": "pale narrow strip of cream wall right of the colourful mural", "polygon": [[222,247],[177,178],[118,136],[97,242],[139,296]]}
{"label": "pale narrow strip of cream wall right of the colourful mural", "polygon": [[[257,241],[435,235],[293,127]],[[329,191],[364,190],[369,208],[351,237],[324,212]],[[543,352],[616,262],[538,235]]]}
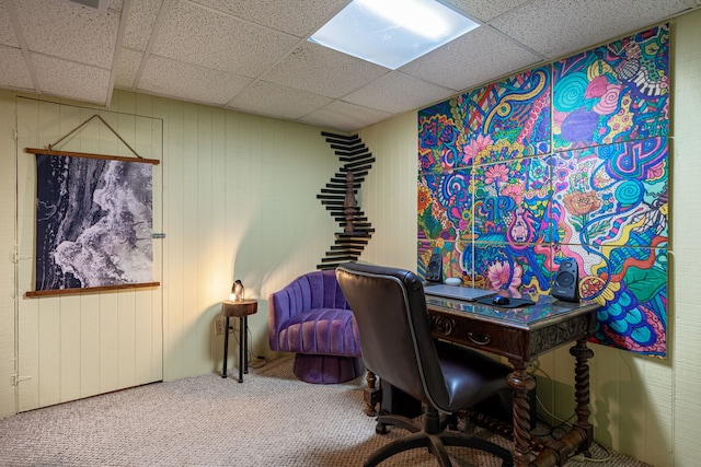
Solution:
{"label": "pale narrow strip of cream wall right of the colourful mural", "polygon": [[[699,420],[701,420],[701,205],[699,205],[699,174],[701,174],[701,11],[676,20],[673,28],[675,71],[674,182],[671,188],[670,296],[675,323],[670,337],[674,365],[675,465],[699,463]],[[652,450],[652,447],[651,447]]]}

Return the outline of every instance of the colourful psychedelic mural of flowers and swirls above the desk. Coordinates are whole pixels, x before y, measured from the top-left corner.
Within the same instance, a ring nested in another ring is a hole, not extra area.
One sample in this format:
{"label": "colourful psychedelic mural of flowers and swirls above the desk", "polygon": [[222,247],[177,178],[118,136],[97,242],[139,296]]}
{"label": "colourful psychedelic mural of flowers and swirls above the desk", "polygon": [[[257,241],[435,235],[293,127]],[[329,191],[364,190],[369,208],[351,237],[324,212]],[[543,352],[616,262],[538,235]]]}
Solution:
{"label": "colourful psychedelic mural of flowers and swirls above the desk", "polygon": [[548,294],[575,258],[594,340],[666,357],[669,30],[418,113],[418,271]]}

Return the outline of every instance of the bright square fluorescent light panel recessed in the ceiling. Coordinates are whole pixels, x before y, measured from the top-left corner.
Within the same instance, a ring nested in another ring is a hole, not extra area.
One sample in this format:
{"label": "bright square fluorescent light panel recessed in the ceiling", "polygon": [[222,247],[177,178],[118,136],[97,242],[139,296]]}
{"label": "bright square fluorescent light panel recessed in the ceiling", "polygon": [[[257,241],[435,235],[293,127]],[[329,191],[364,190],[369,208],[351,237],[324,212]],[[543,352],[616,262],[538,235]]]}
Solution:
{"label": "bright square fluorescent light panel recessed in the ceiling", "polygon": [[435,0],[354,0],[309,40],[395,70],[478,26]]}

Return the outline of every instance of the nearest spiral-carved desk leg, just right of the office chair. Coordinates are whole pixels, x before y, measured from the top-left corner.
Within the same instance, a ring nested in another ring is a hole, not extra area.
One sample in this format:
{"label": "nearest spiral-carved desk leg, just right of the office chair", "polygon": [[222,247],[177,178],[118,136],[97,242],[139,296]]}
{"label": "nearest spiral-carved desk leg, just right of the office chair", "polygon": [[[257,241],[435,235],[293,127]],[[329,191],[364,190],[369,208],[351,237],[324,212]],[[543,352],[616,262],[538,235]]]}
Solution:
{"label": "nearest spiral-carved desk leg, just right of the office chair", "polygon": [[522,467],[531,460],[528,392],[536,387],[536,380],[526,372],[522,362],[512,364],[515,371],[507,376],[507,382],[514,388],[514,465]]}

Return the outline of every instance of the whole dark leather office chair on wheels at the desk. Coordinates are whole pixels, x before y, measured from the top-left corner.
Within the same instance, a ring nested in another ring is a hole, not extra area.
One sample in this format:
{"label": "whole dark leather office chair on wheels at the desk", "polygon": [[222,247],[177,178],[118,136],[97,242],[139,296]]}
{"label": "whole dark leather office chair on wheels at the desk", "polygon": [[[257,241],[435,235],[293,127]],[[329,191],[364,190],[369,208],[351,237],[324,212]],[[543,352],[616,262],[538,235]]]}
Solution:
{"label": "whole dark leather office chair on wheels at the desk", "polygon": [[446,431],[447,418],[505,389],[508,365],[468,348],[434,340],[421,280],[411,271],[363,264],[343,264],[336,277],[360,331],[367,369],[424,404],[423,427],[401,416],[380,415],[387,425],[411,432],[372,453],[366,467],[403,451],[427,447],[438,464],[450,467],[449,446],[485,451],[512,466],[512,454],[486,440]]}

